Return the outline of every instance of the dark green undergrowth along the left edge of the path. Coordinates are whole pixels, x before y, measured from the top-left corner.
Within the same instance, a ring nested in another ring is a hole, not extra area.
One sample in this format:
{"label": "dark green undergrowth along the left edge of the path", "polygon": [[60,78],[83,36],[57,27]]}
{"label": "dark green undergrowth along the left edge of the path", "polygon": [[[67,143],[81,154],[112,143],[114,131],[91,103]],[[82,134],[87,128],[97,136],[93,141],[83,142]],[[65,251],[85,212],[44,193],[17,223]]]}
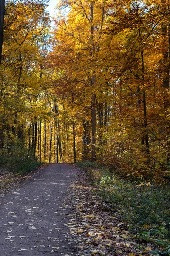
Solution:
{"label": "dark green undergrowth along the left edge of the path", "polygon": [[28,157],[25,151],[18,152],[9,155],[0,155],[0,167],[8,169],[9,172],[13,172],[15,175],[25,175],[28,172],[33,171],[43,163],[38,162],[34,157]]}

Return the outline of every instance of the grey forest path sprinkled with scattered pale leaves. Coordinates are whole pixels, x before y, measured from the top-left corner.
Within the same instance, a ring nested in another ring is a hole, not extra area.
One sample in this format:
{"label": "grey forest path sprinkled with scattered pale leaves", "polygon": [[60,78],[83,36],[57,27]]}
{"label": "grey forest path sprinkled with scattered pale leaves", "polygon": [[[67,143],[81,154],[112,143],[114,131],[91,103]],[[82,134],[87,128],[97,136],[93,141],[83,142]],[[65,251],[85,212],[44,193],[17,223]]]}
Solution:
{"label": "grey forest path sprinkled with scattered pale leaves", "polygon": [[52,163],[0,200],[0,256],[76,255],[65,199],[73,166]]}

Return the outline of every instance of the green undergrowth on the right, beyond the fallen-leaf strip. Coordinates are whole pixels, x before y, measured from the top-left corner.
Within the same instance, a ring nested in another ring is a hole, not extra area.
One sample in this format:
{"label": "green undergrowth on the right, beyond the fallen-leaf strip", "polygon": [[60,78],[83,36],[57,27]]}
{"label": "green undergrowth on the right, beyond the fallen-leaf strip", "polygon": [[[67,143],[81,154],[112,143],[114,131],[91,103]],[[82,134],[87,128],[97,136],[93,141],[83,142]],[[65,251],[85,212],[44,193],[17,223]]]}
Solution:
{"label": "green undergrowth on the right, beyond the fallen-leaf strip", "polygon": [[170,255],[170,186],[119,177],[97,163],[77,163],[88,175],[101,199],[118,212],[131,236],[154,243],[152,255]]}

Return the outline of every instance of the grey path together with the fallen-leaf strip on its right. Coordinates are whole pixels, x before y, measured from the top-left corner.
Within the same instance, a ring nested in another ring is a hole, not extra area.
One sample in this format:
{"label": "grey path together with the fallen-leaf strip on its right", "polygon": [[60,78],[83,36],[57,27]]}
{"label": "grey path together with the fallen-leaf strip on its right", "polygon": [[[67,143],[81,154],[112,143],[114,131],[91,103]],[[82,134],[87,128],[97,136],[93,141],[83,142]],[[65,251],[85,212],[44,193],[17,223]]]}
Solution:
{"label": "grey path together with the fallen-leaf strip on its right", "polygon": [[149,256],[156,250],[129,232],[85,170],[48,164],[24,179],[9,181],[1,194],[0,256]]}

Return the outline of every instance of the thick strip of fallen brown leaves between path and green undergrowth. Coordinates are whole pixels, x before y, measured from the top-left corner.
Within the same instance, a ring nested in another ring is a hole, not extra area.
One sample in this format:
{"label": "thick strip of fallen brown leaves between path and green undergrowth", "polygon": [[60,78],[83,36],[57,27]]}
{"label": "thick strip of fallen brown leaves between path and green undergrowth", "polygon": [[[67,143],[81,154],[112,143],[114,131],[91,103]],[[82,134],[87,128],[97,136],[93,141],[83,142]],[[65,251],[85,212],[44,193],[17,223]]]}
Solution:
{"label": "thick strip of fallen brown leaves between path and green undergrowth", "polygon": [[[82,169],[77,170],[77,179],[72,184],[71,195],[63,207],[71,207],[67,223],[72,239],[77,244],[79,256],[149,256],[152,244],[137,243],[130,234],[127,223],[119,212],[102,201],[96,188],[88,183]],[[66,205],[67,204],[67,205]]]}

